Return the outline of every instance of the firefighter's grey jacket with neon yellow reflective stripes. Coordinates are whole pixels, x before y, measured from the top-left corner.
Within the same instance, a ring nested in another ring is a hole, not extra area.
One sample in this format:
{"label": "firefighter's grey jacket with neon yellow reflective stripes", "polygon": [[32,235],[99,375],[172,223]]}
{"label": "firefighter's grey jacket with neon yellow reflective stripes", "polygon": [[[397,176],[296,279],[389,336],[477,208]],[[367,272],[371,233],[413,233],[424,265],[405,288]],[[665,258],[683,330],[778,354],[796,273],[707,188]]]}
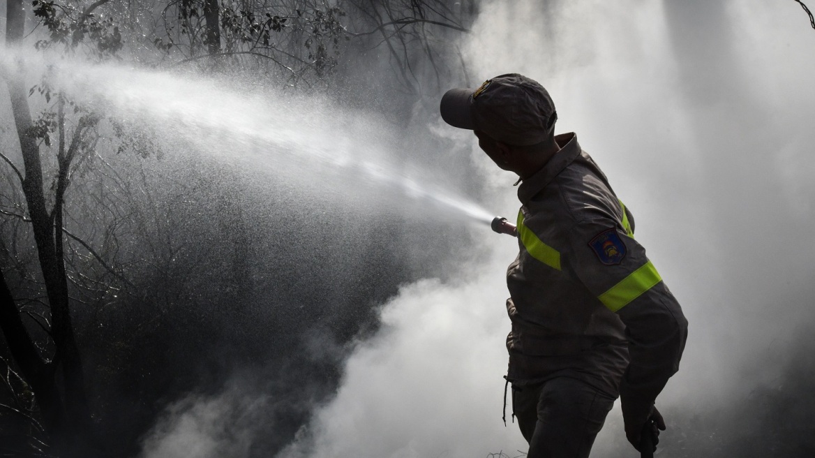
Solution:
{"label": "firefighter's grey jacket with neon yellow reflective stripes", "polygon": [[575,377],[653,402],[679,368],[687,321],[634,219],[575,134],[518,188],[518,258],[507,271],[508,378]]}

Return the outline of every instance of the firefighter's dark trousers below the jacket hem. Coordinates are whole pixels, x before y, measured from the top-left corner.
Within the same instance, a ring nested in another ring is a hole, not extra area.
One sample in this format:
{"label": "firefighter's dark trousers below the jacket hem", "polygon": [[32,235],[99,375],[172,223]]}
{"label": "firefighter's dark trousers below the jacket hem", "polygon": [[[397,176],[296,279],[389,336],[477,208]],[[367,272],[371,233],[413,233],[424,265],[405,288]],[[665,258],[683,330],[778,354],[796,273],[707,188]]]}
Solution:
{"label": "firefighter's dark trousers below the jacket hem", "polygon": [[513,387],[513,412],[529,443],[527,458],[587,458],[614,401],[568,377]]}

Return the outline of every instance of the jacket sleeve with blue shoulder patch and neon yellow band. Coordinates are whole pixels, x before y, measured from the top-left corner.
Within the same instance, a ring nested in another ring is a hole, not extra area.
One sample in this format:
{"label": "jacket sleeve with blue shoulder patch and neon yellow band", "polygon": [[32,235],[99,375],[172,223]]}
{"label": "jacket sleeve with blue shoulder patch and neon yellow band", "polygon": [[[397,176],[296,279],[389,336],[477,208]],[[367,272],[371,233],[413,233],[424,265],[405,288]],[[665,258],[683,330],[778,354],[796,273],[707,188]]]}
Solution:
{"label": "jacket sleeve with blue shoulder patch and neon yellow band", "polygon": [[623,415],[645,423],[654,399],[679,369],[685,315],[645,249],[615,220],[576,223],[570,239],[573,275],[625,324],[630,363],[620,385]]}

